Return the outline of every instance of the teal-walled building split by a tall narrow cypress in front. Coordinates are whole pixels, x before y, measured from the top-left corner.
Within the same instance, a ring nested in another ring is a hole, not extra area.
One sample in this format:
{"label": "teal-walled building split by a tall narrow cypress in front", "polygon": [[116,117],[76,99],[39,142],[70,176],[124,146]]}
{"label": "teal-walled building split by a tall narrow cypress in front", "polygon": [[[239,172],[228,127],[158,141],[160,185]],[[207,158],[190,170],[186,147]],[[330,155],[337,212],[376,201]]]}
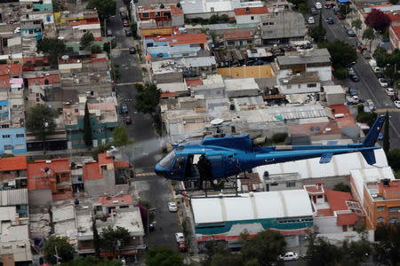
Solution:
{"label": "teal-walled building split by a tall narrow cypress in front", "polygon": [[68,149],[84,149],[87,147],[84,143],[84,108],[86,101],[90,113],[93,147],[112,142],[113,130],[118,127],[115,98],[80,96],[78,104],[67,104],[63,107]]}

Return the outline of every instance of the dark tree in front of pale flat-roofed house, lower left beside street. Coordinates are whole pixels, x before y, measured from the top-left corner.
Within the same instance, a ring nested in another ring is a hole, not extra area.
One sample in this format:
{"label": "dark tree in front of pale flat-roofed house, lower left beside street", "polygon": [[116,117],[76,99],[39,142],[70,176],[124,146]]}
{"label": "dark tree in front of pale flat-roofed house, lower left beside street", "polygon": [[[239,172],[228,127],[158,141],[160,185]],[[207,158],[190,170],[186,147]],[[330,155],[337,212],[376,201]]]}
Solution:
{"label": "dark tree in front of pale flat-roofed house, lower left beside street", "polygon": [[108,226],[101,230],[101,248],[112,251],[113,254],[118,248],[121,249],[127,246],[130,241],[129,231],[124,227],[116,226],[116,228],[113,228]]}

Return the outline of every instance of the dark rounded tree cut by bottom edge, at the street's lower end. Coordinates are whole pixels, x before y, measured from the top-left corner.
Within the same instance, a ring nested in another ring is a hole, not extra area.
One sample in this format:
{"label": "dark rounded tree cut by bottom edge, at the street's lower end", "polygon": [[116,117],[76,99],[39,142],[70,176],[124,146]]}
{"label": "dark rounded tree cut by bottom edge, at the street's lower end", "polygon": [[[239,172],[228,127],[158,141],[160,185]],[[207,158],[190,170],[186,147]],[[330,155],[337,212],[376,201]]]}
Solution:
{"label": "dark rounded tree cut by bottom edge, at the street's lower end", "polygon": [[183,256],[167,246],[154,246],[145,254],[148,266],[183,266]]}

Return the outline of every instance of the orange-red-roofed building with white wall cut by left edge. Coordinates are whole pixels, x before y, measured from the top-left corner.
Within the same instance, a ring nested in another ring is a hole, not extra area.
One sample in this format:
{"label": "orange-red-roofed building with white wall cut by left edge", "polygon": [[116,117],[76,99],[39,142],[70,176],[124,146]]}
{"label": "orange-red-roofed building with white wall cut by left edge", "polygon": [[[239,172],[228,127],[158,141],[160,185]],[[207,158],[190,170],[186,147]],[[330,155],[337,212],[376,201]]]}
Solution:
{"label": "orange-red-roofed building with white wall cut by left edge", "polygon": [[28,184],[27,157],[9,157],[0,159],[0,188],[24,189]]}

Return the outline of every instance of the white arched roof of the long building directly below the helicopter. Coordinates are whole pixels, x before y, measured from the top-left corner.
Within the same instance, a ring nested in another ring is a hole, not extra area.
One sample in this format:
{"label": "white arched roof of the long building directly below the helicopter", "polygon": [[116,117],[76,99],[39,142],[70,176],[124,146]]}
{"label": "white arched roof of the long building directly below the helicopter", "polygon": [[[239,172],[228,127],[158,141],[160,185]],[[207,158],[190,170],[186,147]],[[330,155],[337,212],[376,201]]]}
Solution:
{"label": "white arched roof of the long building directly below the helicopter", "polygon": [[192,199],[191,204],[196,224],[312,215],[311,202],[305,190]]}

